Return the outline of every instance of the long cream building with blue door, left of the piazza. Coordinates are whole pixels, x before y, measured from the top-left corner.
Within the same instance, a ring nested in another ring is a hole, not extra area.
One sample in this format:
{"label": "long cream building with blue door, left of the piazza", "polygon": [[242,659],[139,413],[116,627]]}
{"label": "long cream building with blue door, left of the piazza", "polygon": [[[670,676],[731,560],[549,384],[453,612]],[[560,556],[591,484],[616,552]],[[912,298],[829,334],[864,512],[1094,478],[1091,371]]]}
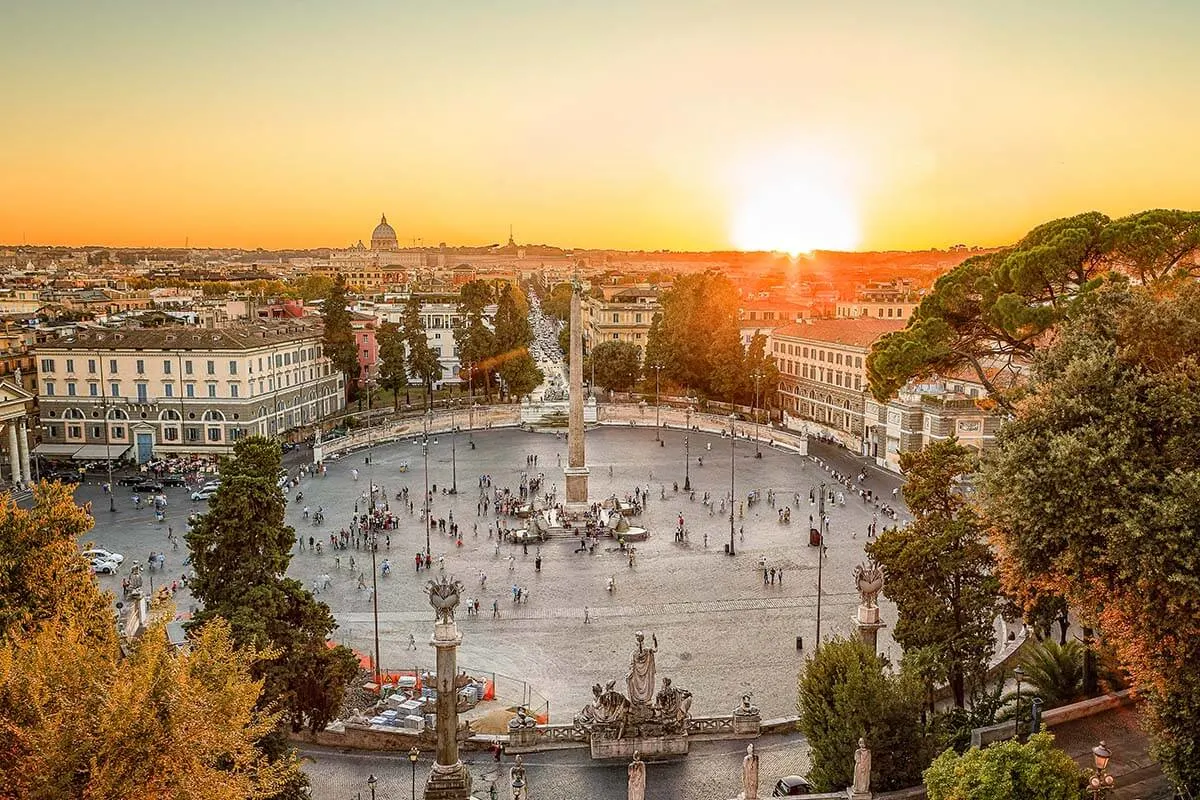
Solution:
{"label": "long cream building with blue door, left of the piazza", "polygon": [[89,330],[38,347],[48,457],[217,455],[246,435],[287,435],[344,407],[320,326]]}

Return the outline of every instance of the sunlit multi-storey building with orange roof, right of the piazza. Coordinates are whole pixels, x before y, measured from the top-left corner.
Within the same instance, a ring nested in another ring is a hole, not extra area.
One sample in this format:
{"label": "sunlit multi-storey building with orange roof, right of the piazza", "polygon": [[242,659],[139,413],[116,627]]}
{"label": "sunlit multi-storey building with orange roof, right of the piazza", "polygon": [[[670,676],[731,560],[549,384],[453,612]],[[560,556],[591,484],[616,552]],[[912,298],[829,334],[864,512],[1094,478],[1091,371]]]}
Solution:
{"label": "sunlit multi-storey building with orange roof, right of the piazza", "polygon": [[779,408],[791,427],[815,429],[863,452],[866,355],[900,320],[818,319],[776,327],[769,351],[779,366]]}

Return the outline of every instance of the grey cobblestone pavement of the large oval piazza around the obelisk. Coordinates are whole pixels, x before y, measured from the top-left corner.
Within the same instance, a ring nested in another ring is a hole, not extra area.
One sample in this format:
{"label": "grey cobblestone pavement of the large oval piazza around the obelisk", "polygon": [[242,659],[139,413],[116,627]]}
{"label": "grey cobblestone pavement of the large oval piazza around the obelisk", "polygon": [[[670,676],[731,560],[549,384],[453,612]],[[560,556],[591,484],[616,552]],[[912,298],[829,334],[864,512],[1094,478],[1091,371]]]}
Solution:
{"label": "grey cobblestone pavement of the large oval piazza around the obelisk", "polygon": [[[472,450],[468,440],[474,439]],[[774,488],[779,505],[792,505],[792,523],[781,524],[776,510],[766,501],[746,509],[734,522],[744,534],[734,534],[737,555],[725,555],[722,545],[730,539],[730,523],[718,511],[709,515],[701,499],[706,491],[720,497],[730,488],[730,440],[713,434],[690,434],[689,471],[696,499],[676,493],[672,483],[684,479],[684,434],[662,433],[658,446],[653,431],[600,428],[588,433],[588,463],[592,468],[590,494],[600,499],[613,493],[625,495],[635,485],[649,486],[650,500],[638,524],[652,531],[649,541],[637,546],[635,566],[614,545],[601,542],[594,555],[576,554],[574,541],[552,541],[541,547],[542,569],[534,570],[536,548],[526,553],[521,546],[502,545],[488,539],[491,515],[476,516],[478,479],[488,474],[494,486],[514,491],[520,483],[527,455],[538,456],[534,473],[544,473],[546,488],[563,492],[562,463],[566,462],[566,439],[553,434],[526,433],[515,429],[458,433],[451,456],[450,437],[440,435],[431,445],[428,473],[431,487],[437,487],[434,517],[450,512],[463,531],[463,546],[452,539],[432,539],[434,558],[444,557],[451,576],[463,581],[466,595],[480,599],[480,616],[458,614],[464,640],[458,661],[475,673],[496,673],[505,684],[518,688],[504,692],[518,697],[528,690],[548,700],[551,720],[570,721],[590,700],[590,687],[623,678],[634,645],[632,633],[643,630],[649,638],[658,636],[659,676],[671,676],[676,685],[694,692],[692,712],[727,714],[743,692],[754,693],[764,717],[794,714],[796,674],[816,633],[816,548],[808,546],[806,528],[811,487],[828,481],[815,457],[799,457],[778,450],[762,450],[754,458],[754,445],[739,440],[733,462],[736,494],[744,501],[748,492]],[[704,465],[696,462],[703,456]],[[857,462],[845,451],[830,449],[829,457],[842,459],[848,473]],[[824,457],[824,456],[822,456]],[[323,479],[306,479],[300,489],[304,504],[293,503],[288,521],[305,539],[312,535],[329,541],[329,534],[347,525],[355,499],[368,481],[382,485],[388,498],[401,487],[410,489],[418,513],[424,489],[424,464],[420,446],[414,441],[397,443],[374,450],[372,464],[364,453],[332,462]],[[407,471],[401,471],[407,464]],[[454,465],[452,465],[454,464]],[[355,482],[350,470],[360,473]],[[442,491],[456,470],[458,494]],[[611,474],[610,474],[611,470]],[[872,474],[868,486],[890,497],[898,479]],[[184,489],[167,489],[167,519],[156,523],[150,511],[134,511],[128,491],[121,487],[116,513],[107,511],[108,501],[96,483],[82,486],[79,500],[94,501],[97,524],[83,541],[121,552],[126,564],[145,561],[150,551],[166,551],[167,569],[152,573],[155,582],[178,579],[185,571],[186,546],[172,551],[167,529],[181,534],[188,512],[204,505],[187,499]],[[665,491],[667,499],[662,500]],[[799,504],[792,494],[799,492]],[[313,528],[302,519],[300,505],[324,506],[326,524]],[[391,500],[394,511],[400,503]],[[690,541],[673,542],[676,518],[683,513]],[[857,604],[851,572],[863,559],[865,531],[872,509],[857,498],[846,498],[845,507],[832,511],[828,554],[822,571],[822,636],[848,633],[851,614]],[[425,547],[425,536],[416,516],[401,512],[401,527],[390,534],[390,546],[378,558],[390,558],[395,569],[379,577],[379,634],[382,662],[385,668],[431,668],[432,648],[425,643],[432,632],[432,612],[422,587],[428,576],[414,575],[413,555]],[[509,521],[512,527],[516,521]],[[478,534],[473,530],[478,524]],[[880,521],[882,528],[883,519]],[[708,537],[707,547],[704,537]],[[509,557],[512,557],[510,563]],[[354,559],[354,570],[349,569]],[[784,570],[782,584],[764,585],[761,559],[768,566]],[[319,575],[331,576],[331,585],[320,593],[338,620],[336,637],[361,652],[372,649],[372,613],[370,591],[358,589],[359,573],[371,584],[370,555],[353,548],[337,554],[314,554],[307,546],[296,552],[289,573],[312,585]],[[480,571],[487,575],[486,589],[480,587]],[[606,579],[616,578],[616,591],[605,589]],[[101,577],[101,582],[120,591],[120,576]],[[511,601],[512,585],[523,587],[528,600]],[[491,603],[499,604],[499,618],[491,615]],[[186,591],[176,596],[180,610],[187,610]],[[592,622],[583,622],[588,607]],[[895,613],[883,603],[884,620]],[[412,633],[420,643],[408,648]],[[803,637],[804,650],[798,650]],[[888,652],[892,640],[888,628],[881,632],[880,649]]]}

